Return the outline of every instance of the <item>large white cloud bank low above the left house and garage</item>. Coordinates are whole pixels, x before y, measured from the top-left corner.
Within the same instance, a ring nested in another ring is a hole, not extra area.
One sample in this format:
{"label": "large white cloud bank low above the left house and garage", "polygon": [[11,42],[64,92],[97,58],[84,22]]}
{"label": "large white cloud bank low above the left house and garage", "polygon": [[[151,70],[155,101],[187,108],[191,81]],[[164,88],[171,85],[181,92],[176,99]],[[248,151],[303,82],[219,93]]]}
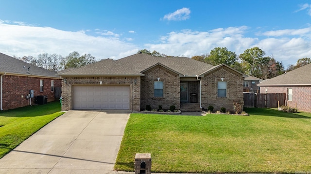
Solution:
{"label": "large white cloud bank low above the left house and garage", "polygon": [[124,54],[128,56],[138,51],[136,45],[116,37],[94,37],[85,34],[84,31],[71,32],[50,27],[11,25],[5,21],[0,21],[0,38],[0,52],[17,57],[36,57],[41,53],[67,56],[72,51],[78,51],[80,54],[90,53],[97,59],[118,59]]}

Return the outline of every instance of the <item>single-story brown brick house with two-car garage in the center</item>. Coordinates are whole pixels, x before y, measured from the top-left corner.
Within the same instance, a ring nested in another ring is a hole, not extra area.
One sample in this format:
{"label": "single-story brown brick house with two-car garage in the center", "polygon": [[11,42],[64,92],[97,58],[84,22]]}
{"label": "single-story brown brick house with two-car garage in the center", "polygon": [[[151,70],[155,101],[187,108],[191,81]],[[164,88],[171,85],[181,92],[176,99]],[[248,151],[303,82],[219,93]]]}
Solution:
{"label": "single-story brown brick house with two-car garage in the center", "polygon": [[231,67],[212,66],[190,58],[153,57],[138,53],[59,73],[62,110],[144,110],[147,105],[181,111],[233,110],[243,103],[243,78]]}

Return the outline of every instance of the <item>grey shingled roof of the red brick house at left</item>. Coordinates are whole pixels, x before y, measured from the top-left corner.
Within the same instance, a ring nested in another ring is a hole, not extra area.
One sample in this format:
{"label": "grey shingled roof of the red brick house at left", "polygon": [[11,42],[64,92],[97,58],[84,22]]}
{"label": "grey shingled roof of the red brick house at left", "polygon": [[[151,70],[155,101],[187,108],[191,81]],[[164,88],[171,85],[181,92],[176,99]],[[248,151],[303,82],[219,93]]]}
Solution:
{"label": "grey shingled roof of the red brick house at left", "polygon": [[57,73],[0,53],[0,74],[59,78]]}

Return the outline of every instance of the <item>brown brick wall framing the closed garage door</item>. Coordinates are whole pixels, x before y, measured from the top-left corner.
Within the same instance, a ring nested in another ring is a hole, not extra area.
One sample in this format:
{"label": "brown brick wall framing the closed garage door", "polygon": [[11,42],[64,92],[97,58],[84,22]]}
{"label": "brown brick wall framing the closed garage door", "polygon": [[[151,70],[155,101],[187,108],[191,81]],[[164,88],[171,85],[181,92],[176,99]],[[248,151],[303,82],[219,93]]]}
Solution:
{"label": "brown brick wall framing the closed garage door", "polygon": [[[66,81],[64,80],[66,79]],[[130,109],[140,110],[140,77],[64,77],[62,80],[62,111],[72,110],[73,85],[127,85],[130,86]]]}

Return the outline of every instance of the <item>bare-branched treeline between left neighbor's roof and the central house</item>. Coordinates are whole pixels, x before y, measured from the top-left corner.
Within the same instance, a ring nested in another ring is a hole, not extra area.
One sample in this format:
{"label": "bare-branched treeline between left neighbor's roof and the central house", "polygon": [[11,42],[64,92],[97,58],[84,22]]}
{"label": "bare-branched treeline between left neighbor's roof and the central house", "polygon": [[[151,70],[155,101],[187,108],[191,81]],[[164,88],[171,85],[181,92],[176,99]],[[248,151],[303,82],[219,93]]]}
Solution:
{"label": "bare-branched treeline between left neighbor's roof and the central house", "polygon": [[22,58],[18,58],[16,56],[13,57],[54,72],[64,70],[70,67],[77,68],[80,66],[96,62],[95,57],[93,57],[91,54],[85,54],[80,56],[80,54],[77,51],[69,53],[69,55],[66,57],[63,57],[58,54],[50,55],[47,53],[39,54],[37,57],[33,56],[24,56]]}

